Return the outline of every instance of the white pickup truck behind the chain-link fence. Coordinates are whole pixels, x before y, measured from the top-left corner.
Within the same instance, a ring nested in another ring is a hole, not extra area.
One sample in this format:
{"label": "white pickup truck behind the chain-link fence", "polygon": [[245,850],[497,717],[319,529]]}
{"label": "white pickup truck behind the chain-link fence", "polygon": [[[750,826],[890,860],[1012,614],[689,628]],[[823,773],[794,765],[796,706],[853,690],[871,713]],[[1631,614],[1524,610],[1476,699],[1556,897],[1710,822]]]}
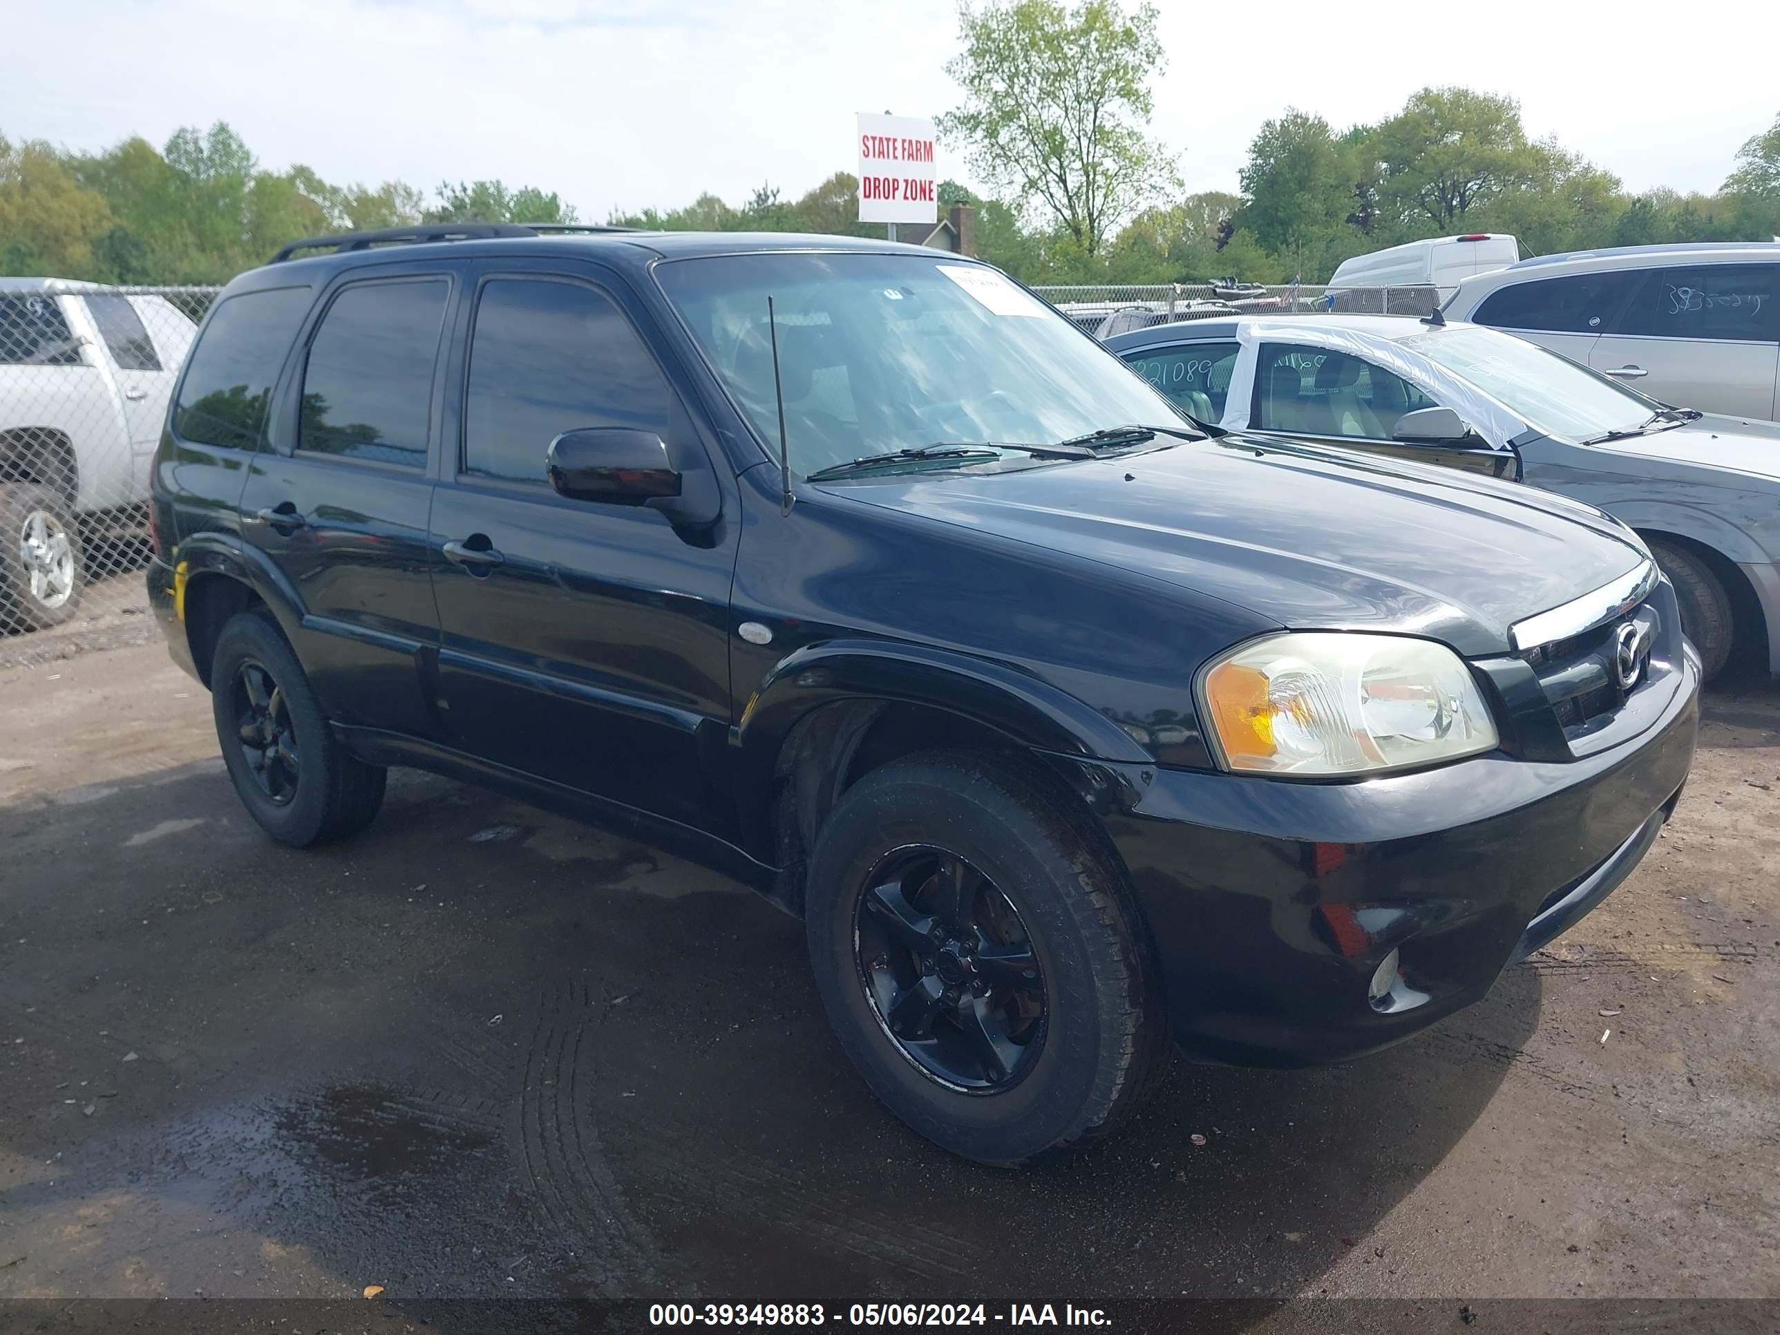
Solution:
{"label": "white pickup truck behind the chain-link fence", "polygon": [[166,297],[0,278],[0,634],[73,618],[87,541],[141,525],[196,331]]}

